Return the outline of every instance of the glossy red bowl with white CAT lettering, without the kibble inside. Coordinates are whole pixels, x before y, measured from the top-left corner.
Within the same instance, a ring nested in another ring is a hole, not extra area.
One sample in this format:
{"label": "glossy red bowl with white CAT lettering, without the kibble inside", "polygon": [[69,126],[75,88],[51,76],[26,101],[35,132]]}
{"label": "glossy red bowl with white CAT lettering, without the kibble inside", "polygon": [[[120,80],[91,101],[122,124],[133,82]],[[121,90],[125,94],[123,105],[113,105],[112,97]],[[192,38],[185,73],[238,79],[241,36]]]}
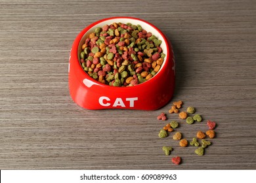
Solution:
{"label": "glossy red bowl with white CAT lettering, without the kibble inside", "polygon": [[[96,27],[114,22],[140,24],[162,41],[161,48],[165,54],[160,71],[150,80],[129,87],[115,87],[102,84],[83,71],[79,62],[81,46]],[[156,110],[166,105],[173,96],[175,87],[175,59],[173,49],[167,37],[156,26],[132,17],[112,17],[99,20],[75,38],[70,51],[68,65],[68,82],[70,95],[77,105],[87,109],[129,108],[140,110]]]}

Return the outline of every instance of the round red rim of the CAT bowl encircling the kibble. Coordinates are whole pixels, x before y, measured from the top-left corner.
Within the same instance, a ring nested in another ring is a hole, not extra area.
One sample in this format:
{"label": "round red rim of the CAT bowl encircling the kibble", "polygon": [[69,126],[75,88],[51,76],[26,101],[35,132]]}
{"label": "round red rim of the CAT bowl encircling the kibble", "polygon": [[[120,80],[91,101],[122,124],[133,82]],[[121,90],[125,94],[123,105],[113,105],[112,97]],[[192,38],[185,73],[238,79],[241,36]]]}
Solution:
{"label": "round red rim of the CAT bowl encircling the kibble", "polygon": [[[91,76],[89,76],[85,71],[83,71],[83,67],[81,67],[81,63],[80,63],[80,61],[79,61],[79,44],[80,44],[80,42],[81,42],[81,39],[83,39],[83,36],[87,33],[87,31],[89,31],[92,27],[94,27],[94,26],[96,26],[97,24],[100,24],[100,23],[102,23],[102,22],[106,22],[106,21],[108,21],[108,20],[114,20],[114,19],[130,19],[130,20],[137,20],[137,21],[140,21],[140,22],[144,22],[144,24],[148,24],[148,25],[150,25],[151,27],[153,27],[156,31],[158,31],[158,33],[161,35],[161,37],[163,38],[163,41],[165,42],[165,44],[166,44],[166,56],[165,56],[165,61],[164,61],[164,65],[161,65],[161,69],[160,69],[160,71],[158,72],[158,73],[156,73],[156,75],[155,76],[153,76],[152,78],[150,78],[150,80],[147,80],[146,82],[143,82],[143,83],[141,83],[141,84],[137,84],[137,85],[135,85],[135,86],[129,86],[129,87],[127,87],[127,86],[118,86],[118,87],[116,87],[116,86],[109,86],[108,84],[102,84],[101,82],[98,82],[98,80],[95,80],[94,78],[92,78]],[[87,79],[87,80],[89,80],[89,82],[91,83],[91,86],[93,86],[93,85],[98,85],[98,86],[101,86],[101,87],[104,87],[104,88],[108,88],[108,89],[110,89],[110,90],[112,90],[112,89],[115,89],[115,90],[131,90],[131,88],[133,88],[133,89],[136,89],[136,88],[138,88],[138,87],[144,87],[144,86],[146,86],[146,84],[150,84],[150,82],[154,82],[154,80],[158,80],[158,78],[160,77],[160,73],[162,73],[161,71],[163,71],[164,70],[164,68],[165,67],[167,67],[167,61],[169,61],[169,57],[170,57],[170,54],[171,54],[171,52],[170,52],[170,48],[171,48],[171,46],[169,45],[169,40],[167,39],[167,37],[164,35],[164,33],[160,30],[160,29],[158,29],[158,27],[156,27],[155,25],[153,25],[153,24],[151,24],[150,22],[147,22],[146,20],[142,20],[142,19],[140,19],[140,18],[135,18],[135,17],[132,17],[132,16],[112,16],[112,17],[109,17],[109,18],[103,18],[103,19],[101,19],[101,20],[98,20],[98,21],[96,21],[96,22],[93,22],[92,24],[90,24],[90,25],[88,25],[87,27],[85,27],[81,32],[80,32],[80,34],[82,33],[82,35],[81,35],[81,37],[79,37],[79,40],[78,40],[78,43],[77,43],[77,46],[76,46],[76,53],[77,54],[75,54],[75,61],[77,61],[78,62],[78,64],[79,64],[79,66],[80,66],[80,68],[79,69],[81,69],[81,71],[83,71],[83,73],[84,73],[84,75],[85,75],[85,78]],[[84,79],[85,79],[84,78]],[[81,80],[81,82],[83,83],[83,80]],[[83,83],[84,84],[84,83]]]}

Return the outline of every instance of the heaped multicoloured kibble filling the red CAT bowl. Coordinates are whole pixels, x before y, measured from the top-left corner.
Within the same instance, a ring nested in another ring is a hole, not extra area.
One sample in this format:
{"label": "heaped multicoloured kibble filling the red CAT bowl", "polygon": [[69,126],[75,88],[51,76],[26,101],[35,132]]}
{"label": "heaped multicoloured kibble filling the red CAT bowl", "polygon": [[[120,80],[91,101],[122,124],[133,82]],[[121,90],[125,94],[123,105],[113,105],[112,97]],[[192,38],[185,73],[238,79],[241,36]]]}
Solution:
{"label": "heaped multicoloured kibble filling the red CAT bowl", "polygon": [[163,64],[161,40],[140,25],[97,27],[80,53],[83,70],[110,86],[135,86],[150,80]]}

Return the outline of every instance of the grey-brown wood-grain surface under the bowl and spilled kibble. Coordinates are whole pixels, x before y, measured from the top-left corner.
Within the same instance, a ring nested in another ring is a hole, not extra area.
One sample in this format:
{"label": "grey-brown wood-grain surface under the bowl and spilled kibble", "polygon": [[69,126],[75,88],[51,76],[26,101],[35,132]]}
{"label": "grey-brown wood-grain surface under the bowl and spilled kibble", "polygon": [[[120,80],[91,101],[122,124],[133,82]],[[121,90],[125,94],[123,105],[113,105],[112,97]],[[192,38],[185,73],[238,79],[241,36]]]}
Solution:
{"label": "grey-brown wood-grain surface under the bowl and spilled kibble", "polygon": [[[177,84],[160,110],[86,110],[70,98],[72,43],[110,16],[142,18],[171,40]],[[0,169],[256,169],[253,0],[1,0],[0,55]],[[204,119],[178,120],[184,138],[205,131],[207,120],[217,122],[205,156],[158,138],[166,122],[156,117],[177,100]],[[166,145],[171,156],[161,150]],[[181,165],[171,163],[174,156]]]}

